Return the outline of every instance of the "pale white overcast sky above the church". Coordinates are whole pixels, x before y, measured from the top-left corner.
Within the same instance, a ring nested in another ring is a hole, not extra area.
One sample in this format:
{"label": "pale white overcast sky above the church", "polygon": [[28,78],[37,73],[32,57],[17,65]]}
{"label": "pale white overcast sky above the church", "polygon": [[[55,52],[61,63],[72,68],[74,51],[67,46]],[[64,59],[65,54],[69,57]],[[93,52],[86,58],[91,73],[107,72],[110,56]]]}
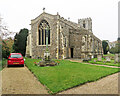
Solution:
{"label": "pale white overcast sky above the church", "polygon": [[118,38],[119,0],[0,0],[2,21],[12,32],[31,29],[31,19],[43,12],[60,14],[78,23],[78,19],[92,18],[93,33],[101,40],[116,41]]}

